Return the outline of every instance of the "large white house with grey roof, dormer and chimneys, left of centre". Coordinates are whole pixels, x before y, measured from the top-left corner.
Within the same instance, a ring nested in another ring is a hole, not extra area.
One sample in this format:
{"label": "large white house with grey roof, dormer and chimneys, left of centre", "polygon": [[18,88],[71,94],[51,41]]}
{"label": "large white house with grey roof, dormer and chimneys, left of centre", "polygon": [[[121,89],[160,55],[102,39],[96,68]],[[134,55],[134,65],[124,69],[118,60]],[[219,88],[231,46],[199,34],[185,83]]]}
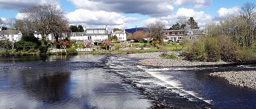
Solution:
{"label": "large white house with grey roof, dormer and chimneys, left of centre", "polygon": [[84,32],[71,32],[71,40],[90,40],[93,43],[108,39],[108,25],[106,28],[86,28],[84,25]]}

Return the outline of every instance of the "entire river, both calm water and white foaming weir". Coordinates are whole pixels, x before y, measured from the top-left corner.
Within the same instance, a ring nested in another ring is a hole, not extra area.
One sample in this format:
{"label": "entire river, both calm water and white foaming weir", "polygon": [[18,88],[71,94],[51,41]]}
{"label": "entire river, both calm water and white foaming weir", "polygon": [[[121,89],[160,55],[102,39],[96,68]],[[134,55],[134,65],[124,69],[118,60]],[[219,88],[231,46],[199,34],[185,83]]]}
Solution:
{"label": "entire river, both calm water and white foaming weir", "polygon": [[255,109],[256,90],[208,76],[256,64],[204,67],[135,65],[116,55],[0,57],[0,108]]}

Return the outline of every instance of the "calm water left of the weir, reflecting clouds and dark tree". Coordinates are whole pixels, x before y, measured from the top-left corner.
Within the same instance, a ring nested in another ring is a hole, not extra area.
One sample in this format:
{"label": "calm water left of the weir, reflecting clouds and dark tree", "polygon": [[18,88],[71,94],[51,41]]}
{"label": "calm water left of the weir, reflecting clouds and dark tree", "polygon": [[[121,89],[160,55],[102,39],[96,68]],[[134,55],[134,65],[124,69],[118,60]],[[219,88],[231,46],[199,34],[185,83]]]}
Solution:
{"label": "calm water left of the weir, reflecting clouds and dark tree", "polygon": [[149,108],[150,101],[104,68],[102,57],[0,57],[0,107]]}

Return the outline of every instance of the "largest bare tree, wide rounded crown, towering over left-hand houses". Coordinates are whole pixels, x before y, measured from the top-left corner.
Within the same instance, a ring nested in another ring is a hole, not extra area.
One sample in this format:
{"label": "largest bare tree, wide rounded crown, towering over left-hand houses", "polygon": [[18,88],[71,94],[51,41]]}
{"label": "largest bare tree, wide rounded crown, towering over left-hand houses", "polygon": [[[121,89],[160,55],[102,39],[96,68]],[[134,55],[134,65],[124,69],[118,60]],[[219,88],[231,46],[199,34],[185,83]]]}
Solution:
{"label": "largest bare tree, wide rounded crown, towering over left-hand houses", "polygon": [[46,35],[59,28],[60,21],[66,18],[61,8],[51,4],[27,7],[23,13],[25,15],[22,19],[42,35],[42,45],[45,45]]}

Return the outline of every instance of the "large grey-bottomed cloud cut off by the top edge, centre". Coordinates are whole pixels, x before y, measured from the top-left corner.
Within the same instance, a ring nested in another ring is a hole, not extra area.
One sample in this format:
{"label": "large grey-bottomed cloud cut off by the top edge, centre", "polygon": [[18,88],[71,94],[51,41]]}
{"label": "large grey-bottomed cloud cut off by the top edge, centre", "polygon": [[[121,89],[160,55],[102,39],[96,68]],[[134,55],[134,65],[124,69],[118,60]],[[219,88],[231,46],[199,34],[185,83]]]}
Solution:
{"label": "large grey-bottomed cloud cut off by the top edge, centre", "polygon": [[90,11],[117,13],[139,13],[153,17],[170,15],[173,6],[192,5],[192,8],[205,8],[212,0],[69,0],[76,7]]}

